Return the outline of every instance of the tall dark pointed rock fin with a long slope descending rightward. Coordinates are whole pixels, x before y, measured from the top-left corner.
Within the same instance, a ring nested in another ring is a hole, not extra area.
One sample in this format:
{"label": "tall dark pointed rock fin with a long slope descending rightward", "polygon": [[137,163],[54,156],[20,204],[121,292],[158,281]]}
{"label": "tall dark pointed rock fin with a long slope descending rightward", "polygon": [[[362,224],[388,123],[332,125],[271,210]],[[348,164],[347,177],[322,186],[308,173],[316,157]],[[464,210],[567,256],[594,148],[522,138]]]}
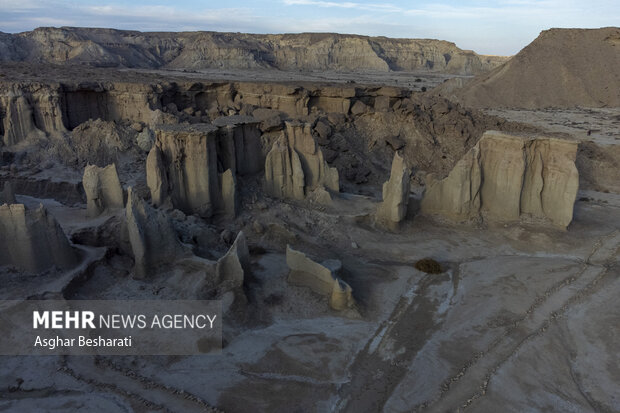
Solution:
{"label": "tall dark pointed rock fin with a long slope descending rightward", "polygon": [[184,254],[166,213],[152,208],[131,187],[127,189],[125,218],[135,261],[135,278],[148,278],[149,274],[158,272]]}

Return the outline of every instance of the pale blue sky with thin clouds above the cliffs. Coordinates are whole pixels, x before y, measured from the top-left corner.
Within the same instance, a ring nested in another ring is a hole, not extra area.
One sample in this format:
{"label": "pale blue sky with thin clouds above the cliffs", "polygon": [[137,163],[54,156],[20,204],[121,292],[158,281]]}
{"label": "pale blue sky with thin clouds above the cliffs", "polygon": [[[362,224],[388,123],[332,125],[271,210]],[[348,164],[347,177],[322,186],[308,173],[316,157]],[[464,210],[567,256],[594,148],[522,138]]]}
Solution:
{"label": "pale blue sky with thin clouds above the cliffs", "polygon": [[140,31],[336,32],[441,39],[513,55],[552,27],[620,25],[619,0],[0,0],[0,31],[41,26]]}

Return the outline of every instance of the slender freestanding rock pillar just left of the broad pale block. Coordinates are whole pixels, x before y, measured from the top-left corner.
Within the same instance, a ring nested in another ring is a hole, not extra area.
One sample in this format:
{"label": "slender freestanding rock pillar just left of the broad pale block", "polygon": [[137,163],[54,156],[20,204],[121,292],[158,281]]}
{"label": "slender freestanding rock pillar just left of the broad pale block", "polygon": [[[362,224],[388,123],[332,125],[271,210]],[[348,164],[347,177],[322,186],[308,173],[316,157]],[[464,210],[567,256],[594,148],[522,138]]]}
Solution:
{"label": "slender freestanding rock pillar just left of the broad pale block", "polygon": [[386,225],[398,224],[407,215],[409,201],[409,178],[411,171],[405,160],[394,153],[389,181],[383,184],[383,202],[377,209],[377,221]]}

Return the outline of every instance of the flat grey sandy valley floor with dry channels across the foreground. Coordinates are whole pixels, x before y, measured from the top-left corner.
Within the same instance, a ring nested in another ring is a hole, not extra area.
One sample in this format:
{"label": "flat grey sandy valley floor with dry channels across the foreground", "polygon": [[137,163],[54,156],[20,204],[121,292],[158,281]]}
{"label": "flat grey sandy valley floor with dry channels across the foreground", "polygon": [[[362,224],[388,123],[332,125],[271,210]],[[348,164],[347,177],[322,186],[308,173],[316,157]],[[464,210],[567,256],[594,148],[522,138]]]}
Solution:
{"label": "flat grey sandy valley floor with dry channels across the foreground", "polygon": [[[416,218],[385,233],[361,219],[351,224],[363,216],[359,207],[347,217],[293,204],[278,211],[283,220],[322,227],[292,229],[295,246],[343,261],[361,319],[343,318],[323,298],[288,285],[283,251],[267,251],[253,256],[259,294],[281,294],[282,303],[264,323],[226,332],[221,356],[4,357],[0,386],[24,381],[3,394],[0,407],[617,411],[620,198],[580,195],[593,199],[576,204],[567,232]],[[79,208],[43,202],[67,231],[85,225]],[[277,217],[265,210],[257,219]],[[446,271],[415,270],[426,256]],[[96,272],[79,291],[94,294],[92,284],[109,297],[136,283]]]}

